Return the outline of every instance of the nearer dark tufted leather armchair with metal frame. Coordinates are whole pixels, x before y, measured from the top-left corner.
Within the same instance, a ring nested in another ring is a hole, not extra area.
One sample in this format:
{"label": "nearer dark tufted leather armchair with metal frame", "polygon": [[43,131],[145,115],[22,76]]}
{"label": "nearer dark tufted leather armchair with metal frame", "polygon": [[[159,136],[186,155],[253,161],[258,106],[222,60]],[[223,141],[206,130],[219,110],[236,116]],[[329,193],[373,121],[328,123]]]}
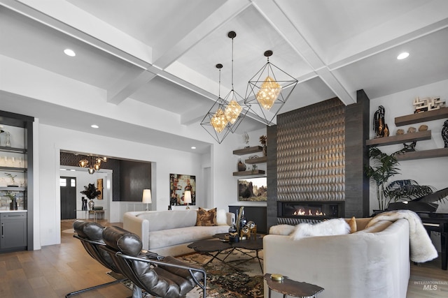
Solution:
{"label": "nearer dark tufted leather armchair with metal frame", "polygon": [[141,239],[122,228],[109,226],[103,230],[106,246],[118,270],[139,288],[155,297],[185,297],[196,285],[206,297],[207,274],[202,267],[190,265],[174,257],[154,260],[141,251]]}

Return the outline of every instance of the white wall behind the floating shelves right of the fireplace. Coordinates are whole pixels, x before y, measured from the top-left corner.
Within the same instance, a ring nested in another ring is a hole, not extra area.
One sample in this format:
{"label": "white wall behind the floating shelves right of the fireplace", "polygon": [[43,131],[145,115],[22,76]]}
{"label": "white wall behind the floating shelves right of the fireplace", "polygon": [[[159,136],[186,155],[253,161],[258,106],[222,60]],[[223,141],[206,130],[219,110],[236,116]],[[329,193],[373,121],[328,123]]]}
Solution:
{"label": "white wall behind the floating shelves right of the fireplace", "polygon": [[[368,96],[368,94],[367,94]],[[412,105],[414,98],[440,96],[448,104],[448,80],[424,85],[415,89],[409,89],[396,94],[383,96],[380,98],[370,98],[370,119],[373,119],[374,112],[378,110],[379,105],[386,109],[385,121],[388,124],[391,135],[395,135],[398,128],[403,128],[405,132],[410,126],[419,128],[421,124],[428,125],[431,131],[431,140],[419,141],[416,143],[416,150],[423,151],[427,149],[443,148],[442,126],[446,119],[435,121],[426,121],[407,126],[395,126],[395,117],[405,116],[414,113]],[[370,139],[374,137],[372,124],[370,124]],[[391,154],[402,149],[402,144],[379,147],[381,151]],[[414,179],[421,185],[434,186],[437,190],[448,187],[448,157],[426,158],[411,161],[400,161],[400,174],[391,178],[391,181],[399,179]],[[377,195],[374,184],[370,185],[370,209],[378,209]],[[437,212],[448,212],[447,203],[439,203]]]}

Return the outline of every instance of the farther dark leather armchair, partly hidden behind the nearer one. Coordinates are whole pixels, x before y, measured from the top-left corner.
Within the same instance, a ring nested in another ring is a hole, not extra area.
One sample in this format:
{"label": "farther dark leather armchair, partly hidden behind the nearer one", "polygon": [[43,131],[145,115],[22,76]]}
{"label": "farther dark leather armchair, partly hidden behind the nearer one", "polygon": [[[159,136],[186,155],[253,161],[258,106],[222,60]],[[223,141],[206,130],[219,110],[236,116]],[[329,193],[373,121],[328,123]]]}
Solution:
{"label": "farther dark leather armchair, partly hidden behind the nearer one", "polygon": [[[79,239],[81,243],[83,244],[85,251],[94,258],[94,260],[97,260],[101,265],[106,267],[107,269],[110,269],[118,274],[121,274],[121,272],[117,269],[115,263],[113,262],[111,256],[106,253],[105,251],[102,251],[99,249],[99,246],[106,246],[103,241],[103,230],[104,227],[102,225],[99,225],[99,223],[92,223],[90,221],[75,221],[73,223],[73,229],[75,230],[76,234],[73,235],[73,237]],[[127,278],[119,279],[117,281],[111,281],[109,283],[103,283],[101,285],[95,285],[90,288],[85,288],[83,290],[77,290],[75,292],[70,292],[69,294],[65,295],[66,298],[71,297],[73,295],[77,295],[83,292],[87,292],[90,290],[95,290],[98,288],[106,287],[107,285],[114,285],[116,283],[120,283],[122,281],[125,281]],[[138,289],[135,290],[137,292],[137,295],[133,295],[134,298],[137,298],[139,293]]]}

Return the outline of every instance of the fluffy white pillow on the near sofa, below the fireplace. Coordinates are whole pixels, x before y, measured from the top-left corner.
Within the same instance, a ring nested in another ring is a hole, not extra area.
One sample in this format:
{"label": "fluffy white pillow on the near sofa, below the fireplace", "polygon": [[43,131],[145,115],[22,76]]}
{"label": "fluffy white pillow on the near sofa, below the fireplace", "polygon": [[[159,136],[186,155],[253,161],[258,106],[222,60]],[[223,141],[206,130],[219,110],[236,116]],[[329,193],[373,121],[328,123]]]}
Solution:
{"label": "fluffy white pillow on the near sofa, below the fireplace", "polygon": [[313,236],[330,236],[349,234],[350,226],[344,218],[332,218],[328,221],[321,221],[320,223],[299,223],[295,231],[290,234],[294,240],[302,239],[304,237]]}

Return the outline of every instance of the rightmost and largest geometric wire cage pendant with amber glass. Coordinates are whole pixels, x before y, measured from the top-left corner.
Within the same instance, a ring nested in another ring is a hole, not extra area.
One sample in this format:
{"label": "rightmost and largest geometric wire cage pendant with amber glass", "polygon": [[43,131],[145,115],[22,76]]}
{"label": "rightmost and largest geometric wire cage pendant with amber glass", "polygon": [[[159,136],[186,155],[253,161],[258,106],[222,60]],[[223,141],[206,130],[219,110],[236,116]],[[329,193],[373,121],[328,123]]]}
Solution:
{"label": "rightmost and largest geometric wire cage pendant with amber glass", "polygon": [[251,105],[251,110],[268,126],[273,124],[276,114],[298,83],[295,77],[269,62],[272,54],[272,50],[265,51],[267,63],[249,80],[244,99],[244,103]]}

